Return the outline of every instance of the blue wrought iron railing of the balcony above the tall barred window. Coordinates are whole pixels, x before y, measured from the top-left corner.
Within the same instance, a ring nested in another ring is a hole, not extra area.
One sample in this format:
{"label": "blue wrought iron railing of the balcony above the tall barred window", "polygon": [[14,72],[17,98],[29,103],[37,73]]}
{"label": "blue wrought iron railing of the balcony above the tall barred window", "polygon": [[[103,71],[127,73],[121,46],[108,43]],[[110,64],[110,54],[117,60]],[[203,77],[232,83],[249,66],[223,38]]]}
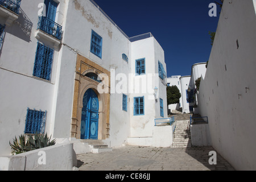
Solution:
{"label": "blue wrought iron railing of the balcony above the tall barred window", "polygon": [[38,29],[46,32],[46,34],[51,35],[58,40],[62,39],[62,26],[53,22],[46,16],[39,16]]}

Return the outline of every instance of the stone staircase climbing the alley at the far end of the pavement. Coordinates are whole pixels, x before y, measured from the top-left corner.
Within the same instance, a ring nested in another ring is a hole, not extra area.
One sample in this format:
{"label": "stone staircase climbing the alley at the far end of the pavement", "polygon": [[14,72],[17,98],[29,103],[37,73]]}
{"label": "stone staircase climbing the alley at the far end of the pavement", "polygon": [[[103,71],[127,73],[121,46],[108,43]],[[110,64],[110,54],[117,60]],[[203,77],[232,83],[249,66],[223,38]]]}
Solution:
{"label": "stone staircase climbing the alley at the far end of the pavement", "polygon": [[191,147],[191,134],[188,127],[188,121],[176,121],[176,129],[172,148]]}

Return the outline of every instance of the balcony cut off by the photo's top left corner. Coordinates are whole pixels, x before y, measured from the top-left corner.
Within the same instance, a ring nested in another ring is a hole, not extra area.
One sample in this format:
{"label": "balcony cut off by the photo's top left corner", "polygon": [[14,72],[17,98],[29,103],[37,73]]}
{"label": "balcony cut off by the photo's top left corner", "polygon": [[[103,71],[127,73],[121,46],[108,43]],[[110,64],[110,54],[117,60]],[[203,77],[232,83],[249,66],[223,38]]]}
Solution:
{"label": "balcony cut off by the photo's top left corner", "polygon": [[5,18],[5,24],[11,26],[19,18],[21,0],[0,0],[0,16]]}

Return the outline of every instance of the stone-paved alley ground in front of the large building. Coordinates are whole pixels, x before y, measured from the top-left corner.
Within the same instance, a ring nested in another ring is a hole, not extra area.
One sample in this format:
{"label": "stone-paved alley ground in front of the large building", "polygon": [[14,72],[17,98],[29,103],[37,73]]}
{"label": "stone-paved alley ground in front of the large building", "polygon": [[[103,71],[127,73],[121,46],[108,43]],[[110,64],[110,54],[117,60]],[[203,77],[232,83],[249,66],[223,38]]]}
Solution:
{"label": "stone-paved alley ground in front of the large building", "polygon": [[155,148],[125,146],[112,152],[77,155],[80,171],[210,171],[234,170],[219,154],[209,164],[212,147]]}

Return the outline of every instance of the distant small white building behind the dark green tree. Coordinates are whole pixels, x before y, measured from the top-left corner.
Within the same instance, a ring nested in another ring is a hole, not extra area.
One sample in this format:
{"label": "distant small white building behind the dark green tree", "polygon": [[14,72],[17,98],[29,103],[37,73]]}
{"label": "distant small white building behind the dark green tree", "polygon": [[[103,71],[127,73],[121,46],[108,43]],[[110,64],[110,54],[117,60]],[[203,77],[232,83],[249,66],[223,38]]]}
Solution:
{"label": "distant small white building behind the dark green tree", "polygon": [[[180,90],[181,94],[181,84],[180,84],[180,75],[177,76],[171,76],[167,78],[167,86],[177,86],[177,88]],[[180,97],[180,103],[179,104],[170,104],[168,105],[168,109],[170,111],[172,110],[179,110],[180,106],[182,106],[182,97]]]}

